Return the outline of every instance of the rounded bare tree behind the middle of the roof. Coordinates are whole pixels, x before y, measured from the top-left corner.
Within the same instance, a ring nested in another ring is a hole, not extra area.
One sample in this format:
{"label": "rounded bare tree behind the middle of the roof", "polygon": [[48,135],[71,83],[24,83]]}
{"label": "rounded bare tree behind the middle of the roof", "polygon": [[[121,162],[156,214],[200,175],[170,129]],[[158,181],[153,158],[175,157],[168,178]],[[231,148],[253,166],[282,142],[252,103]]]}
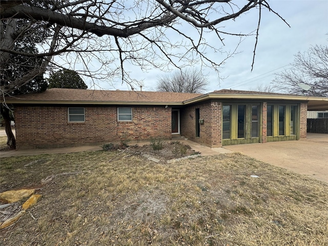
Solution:
{"label": "rounded bare tree behind the middle of the roof", "polygon": [[206,90],[208,80],[196,69],[181,69],[159,77],[157,91],[201,93]]}

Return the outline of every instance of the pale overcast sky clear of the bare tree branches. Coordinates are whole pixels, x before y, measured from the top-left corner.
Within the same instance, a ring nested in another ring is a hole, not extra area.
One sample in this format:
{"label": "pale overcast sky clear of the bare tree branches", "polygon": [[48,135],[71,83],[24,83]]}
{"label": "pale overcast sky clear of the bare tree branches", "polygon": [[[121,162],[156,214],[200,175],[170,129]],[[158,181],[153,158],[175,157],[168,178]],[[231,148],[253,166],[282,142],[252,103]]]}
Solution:
{"label": "pale overcast sky clear of the bare tree branches", "polygon": [[[220,89],[251,90],[260,85],[272,84],[275,73],[291,68],[294,55],[298,52],[306,52],[311,46],[328,43],[328,1],[327,0],[271,0],[271,8],[290,25],[286,25],[278,16],[269,11],[262,11],[261,25],[259,29],[258,44],[254,67],[252,71],[253,50],[255,36],[243,39],[238,47],[238,54],[229,58],[221,69],[219,79],[217,74],[206,69],[209,86],[206,92]],[[224,23],[227,30],[244,30],[244,33],[254,31],[257,27],[256,15],[252,12],[244,14],[235,22]],[[208,43],[217,42],[209,37]],[[230,45],[229,38],[224,40],[226,50],[234,50],[235,45]],[[213,54],[217,55],[217,54]],[[216,57],[213,56],[215,59]],[[217,57],[218,60],[221,57]],[[194,66],[196,69],[200,66]],[[142,90],[155,91],[158,77],[165,72],[153,69],[149,72],[135,70],[133,76],[143,81]],[[88,85],[88,81],[86,81]],[[118,80],[113,85],[106,81],[98,81],[101,89],[129,90],[126,84]],[[90,85],[89,85],[90,87]],[[99,89],[93,87],[95,89]]]}

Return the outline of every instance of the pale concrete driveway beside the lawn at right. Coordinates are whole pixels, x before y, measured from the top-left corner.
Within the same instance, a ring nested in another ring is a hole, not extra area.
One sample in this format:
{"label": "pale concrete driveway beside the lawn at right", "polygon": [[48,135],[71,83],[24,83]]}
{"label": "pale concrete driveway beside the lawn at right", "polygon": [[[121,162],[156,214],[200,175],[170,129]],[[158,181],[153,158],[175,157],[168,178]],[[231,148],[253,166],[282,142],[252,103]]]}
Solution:
{"label": "pale concrete driveway beside the lawn at right", "polygon": [[328,182],[328,134],[308,133],[306,140],[233,145],[224,148]]}

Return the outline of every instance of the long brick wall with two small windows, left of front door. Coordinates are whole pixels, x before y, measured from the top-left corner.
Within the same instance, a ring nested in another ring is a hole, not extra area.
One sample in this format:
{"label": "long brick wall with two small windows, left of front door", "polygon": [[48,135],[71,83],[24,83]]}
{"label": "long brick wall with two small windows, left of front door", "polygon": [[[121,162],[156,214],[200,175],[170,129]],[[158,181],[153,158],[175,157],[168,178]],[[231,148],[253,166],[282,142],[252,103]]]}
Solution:
{"label": "long brick wall with two small windows, left of front door", "polygon": [[132,122],[117,121],[116,107],[86,107],[85,122],[68,122],[68,107],[16,107],[17,148],[104,144],[121,138],[171,138],[171,108],[133,107]]}

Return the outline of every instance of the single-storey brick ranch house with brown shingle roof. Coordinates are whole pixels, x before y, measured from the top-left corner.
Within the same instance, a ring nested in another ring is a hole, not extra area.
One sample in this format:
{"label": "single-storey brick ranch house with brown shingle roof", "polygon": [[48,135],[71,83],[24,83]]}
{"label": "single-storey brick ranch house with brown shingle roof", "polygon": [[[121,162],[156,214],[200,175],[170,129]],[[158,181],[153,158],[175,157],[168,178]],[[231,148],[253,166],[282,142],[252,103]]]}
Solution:
{"label": "single-storey brick ranch house with brown shingle roof", "polygon": [[306,138],[307,110],[328,98],[250,91],[206,94],[49,89],[6,98],[17,148],[104,144],[185,136],[216,148]]}

